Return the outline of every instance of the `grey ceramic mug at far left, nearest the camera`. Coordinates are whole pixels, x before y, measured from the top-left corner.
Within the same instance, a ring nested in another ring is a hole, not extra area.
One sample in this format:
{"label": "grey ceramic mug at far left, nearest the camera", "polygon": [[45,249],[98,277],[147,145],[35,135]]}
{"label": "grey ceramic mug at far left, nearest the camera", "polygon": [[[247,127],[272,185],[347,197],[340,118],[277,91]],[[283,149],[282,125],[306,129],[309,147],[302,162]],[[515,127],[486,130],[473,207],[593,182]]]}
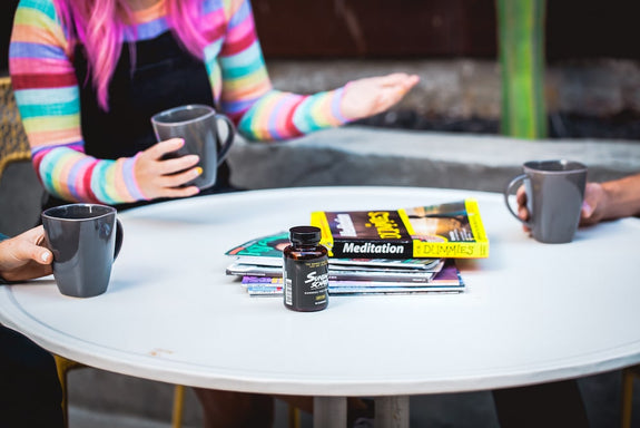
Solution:
{"label": "grey ceramic mug at far left, nearest the camera", "polygon": [[69,204],[41,214],[45,242],[53,253],[53,278],[62,294],[91,298],[107,291],[124,237],[116,213],[107,205]]}

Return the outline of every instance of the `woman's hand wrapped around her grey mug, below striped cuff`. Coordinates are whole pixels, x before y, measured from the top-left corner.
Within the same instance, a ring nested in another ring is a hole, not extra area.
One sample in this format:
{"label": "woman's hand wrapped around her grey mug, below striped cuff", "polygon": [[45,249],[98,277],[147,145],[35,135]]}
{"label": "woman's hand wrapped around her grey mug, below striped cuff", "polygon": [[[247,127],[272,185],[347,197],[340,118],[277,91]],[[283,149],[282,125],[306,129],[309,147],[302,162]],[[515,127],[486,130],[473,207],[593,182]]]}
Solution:
{"label": "woman's hand wrapped around her grey mug, below striped cuff", "polygon": [[138,155],[135,167],[136,181],[147,198],[188,197],[200,192],[196,186],[180,187],[203,173],[200,167],[195,166],[200,159],[197,155],[163,159],[165,155],[170,155],[184,144],[185,140],[181,138],[171,138],[155,144]]}

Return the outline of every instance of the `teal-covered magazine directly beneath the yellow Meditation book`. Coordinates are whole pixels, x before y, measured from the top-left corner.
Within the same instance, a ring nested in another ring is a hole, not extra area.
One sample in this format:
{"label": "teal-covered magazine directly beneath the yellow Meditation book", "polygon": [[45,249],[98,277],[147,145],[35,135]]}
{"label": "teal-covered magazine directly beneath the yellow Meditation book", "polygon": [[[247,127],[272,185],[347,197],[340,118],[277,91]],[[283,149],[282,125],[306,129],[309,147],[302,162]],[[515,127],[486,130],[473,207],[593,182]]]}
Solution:
{"label": "teal-covered magazine directly beneath the yellow Meditation book", "polygon": [[[278,232],[245,242],[225,254],[233,256],[235,262],[240,264],[282,266],[283,250],[288,244],[289,233]],[[422,270],[431,270],[439,263],[440,259],[329,259],[329,265],[393,266]]]}

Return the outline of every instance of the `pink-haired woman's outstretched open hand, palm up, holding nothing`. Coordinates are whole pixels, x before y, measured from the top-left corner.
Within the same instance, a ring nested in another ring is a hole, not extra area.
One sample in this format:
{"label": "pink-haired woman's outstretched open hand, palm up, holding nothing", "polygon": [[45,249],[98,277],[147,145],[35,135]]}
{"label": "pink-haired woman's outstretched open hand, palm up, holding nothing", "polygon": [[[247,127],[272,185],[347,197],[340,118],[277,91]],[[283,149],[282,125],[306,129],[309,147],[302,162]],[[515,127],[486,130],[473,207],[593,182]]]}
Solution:
{"label": "pink-haired woman's outstretched open hand, palm up, holding nothing", "polygon": [[419,80],[404,72],[354,80],[345,86],[342,114],[348,119],[377,115],[398,103]]}

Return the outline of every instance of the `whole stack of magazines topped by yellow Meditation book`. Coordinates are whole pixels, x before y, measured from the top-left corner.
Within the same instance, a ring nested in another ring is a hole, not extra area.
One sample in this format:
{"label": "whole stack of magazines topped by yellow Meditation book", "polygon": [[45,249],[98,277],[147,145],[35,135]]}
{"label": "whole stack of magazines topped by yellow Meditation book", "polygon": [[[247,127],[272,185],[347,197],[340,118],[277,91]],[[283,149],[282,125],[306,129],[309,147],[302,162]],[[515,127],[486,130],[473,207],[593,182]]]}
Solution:
{"label": "whole stack of magazines topped by yellow Meditation book", "polygon": [[[455,259],[489,256],[475,200],[394,211],[312,213],[329,251],[329,294],[460,293]],[[250,295],[282,295],[288,232],[243,243],[227,274]]]}

